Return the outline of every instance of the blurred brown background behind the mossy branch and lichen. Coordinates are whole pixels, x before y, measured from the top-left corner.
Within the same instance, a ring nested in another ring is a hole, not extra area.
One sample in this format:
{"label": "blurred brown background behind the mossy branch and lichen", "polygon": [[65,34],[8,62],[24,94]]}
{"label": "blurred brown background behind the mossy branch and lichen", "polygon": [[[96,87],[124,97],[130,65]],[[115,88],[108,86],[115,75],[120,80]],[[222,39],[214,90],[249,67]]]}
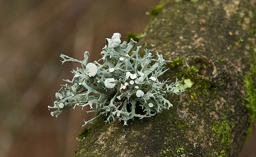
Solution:
{"label": "blurred brown background behind the mossy branch and lichen", "polygon": [[[60,53],[100,58],[114,32],[141,33],[160,0],[0,0],[0,157],[68,157],[88,115],[76,108],[52,117],[62,79],[76,64]],[[254,127],[254,132],[256,128]],[[255,133],[240,157],[256,156]]]}

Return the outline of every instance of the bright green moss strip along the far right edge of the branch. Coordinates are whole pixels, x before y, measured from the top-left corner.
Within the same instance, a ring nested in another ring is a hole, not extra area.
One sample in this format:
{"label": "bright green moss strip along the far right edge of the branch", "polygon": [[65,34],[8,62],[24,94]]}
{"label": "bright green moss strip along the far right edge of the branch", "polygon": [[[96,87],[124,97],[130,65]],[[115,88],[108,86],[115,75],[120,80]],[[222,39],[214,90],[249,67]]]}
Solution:
{"label": "bright green moss strip along the far right edge of the branch", "polygon": [[246,130],[248,136],[251,134],[252,125],[256,116],[256,48],[253,49],[253,60],[251,61],[251,72],[245,73],[244,87],[246,89],[247,104],[245,105],[247,115],[249,116],[249,127]]}

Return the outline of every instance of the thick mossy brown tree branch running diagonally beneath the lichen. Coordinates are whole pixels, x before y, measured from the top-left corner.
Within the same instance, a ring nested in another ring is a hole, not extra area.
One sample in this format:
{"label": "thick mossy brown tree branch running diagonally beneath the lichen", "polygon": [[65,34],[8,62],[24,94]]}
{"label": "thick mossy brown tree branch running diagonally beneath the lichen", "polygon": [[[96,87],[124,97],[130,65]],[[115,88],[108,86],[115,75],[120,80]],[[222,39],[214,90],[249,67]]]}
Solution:
{"label": "thick mossy brown tree branch running diagonally beneath the lichen", "polygon": [[[82,156],[237,156],[255,117],[255,0],[161,2],[137,45],[173,60],[160,78],[190,79],[173,107],[150,118],[99,118],[75,151]],[[253,28],[254,26],[254,28]]]}

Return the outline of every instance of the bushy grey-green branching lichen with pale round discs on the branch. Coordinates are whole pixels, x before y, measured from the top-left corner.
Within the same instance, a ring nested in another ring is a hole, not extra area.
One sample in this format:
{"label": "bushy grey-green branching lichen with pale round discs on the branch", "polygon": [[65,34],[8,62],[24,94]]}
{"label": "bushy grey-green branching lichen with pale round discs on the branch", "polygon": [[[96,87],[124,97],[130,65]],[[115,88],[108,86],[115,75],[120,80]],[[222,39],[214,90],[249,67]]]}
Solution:
{"label": "bushy grey-green branching lichen with pale round discs on the branch", "polygon": [[[67,108],[90,106],[89,112],[99,113],[98,116],[85,122],[93,123],[100,115],[106,115],[106,123],[115,121],[116,118],[127,121],[134,117],[144,118],[154,116],[162,109],[172,107],[170,101],[164,98],[166,93],[180,94],[184,89],[177,90],[178,79],[175,82],[159,81],[163,75],[166,61],[156,52],[156,59],[148,49],[145,55],[139,56],[139,49],[130,52],[136,41],[121,44],[121,34],[114,33],[111,39],[106,38],[106,45],[101,51],[103,64],[99,61],[88,63],[89,53],[84,53],[84,60],[79,61],[61,54],[62,64],[73,61],[82,64],[82,68],[73,70],[72,80],[65,80],[71,85],[62,85],[56,93],[57,101],[49,109],[52,116],[58,116]],[[130,53],[129,53],[130,52]],[[128,54],[129,53],[129,54]],[[169,85],[168,85],[169,84]],[[176,90],[175,90],[176,89]],[[137,110],[136,110],[137,109]],[[141,114],[137,111],[142,109]],[[83,126],[84,126],[83,125]]]}

